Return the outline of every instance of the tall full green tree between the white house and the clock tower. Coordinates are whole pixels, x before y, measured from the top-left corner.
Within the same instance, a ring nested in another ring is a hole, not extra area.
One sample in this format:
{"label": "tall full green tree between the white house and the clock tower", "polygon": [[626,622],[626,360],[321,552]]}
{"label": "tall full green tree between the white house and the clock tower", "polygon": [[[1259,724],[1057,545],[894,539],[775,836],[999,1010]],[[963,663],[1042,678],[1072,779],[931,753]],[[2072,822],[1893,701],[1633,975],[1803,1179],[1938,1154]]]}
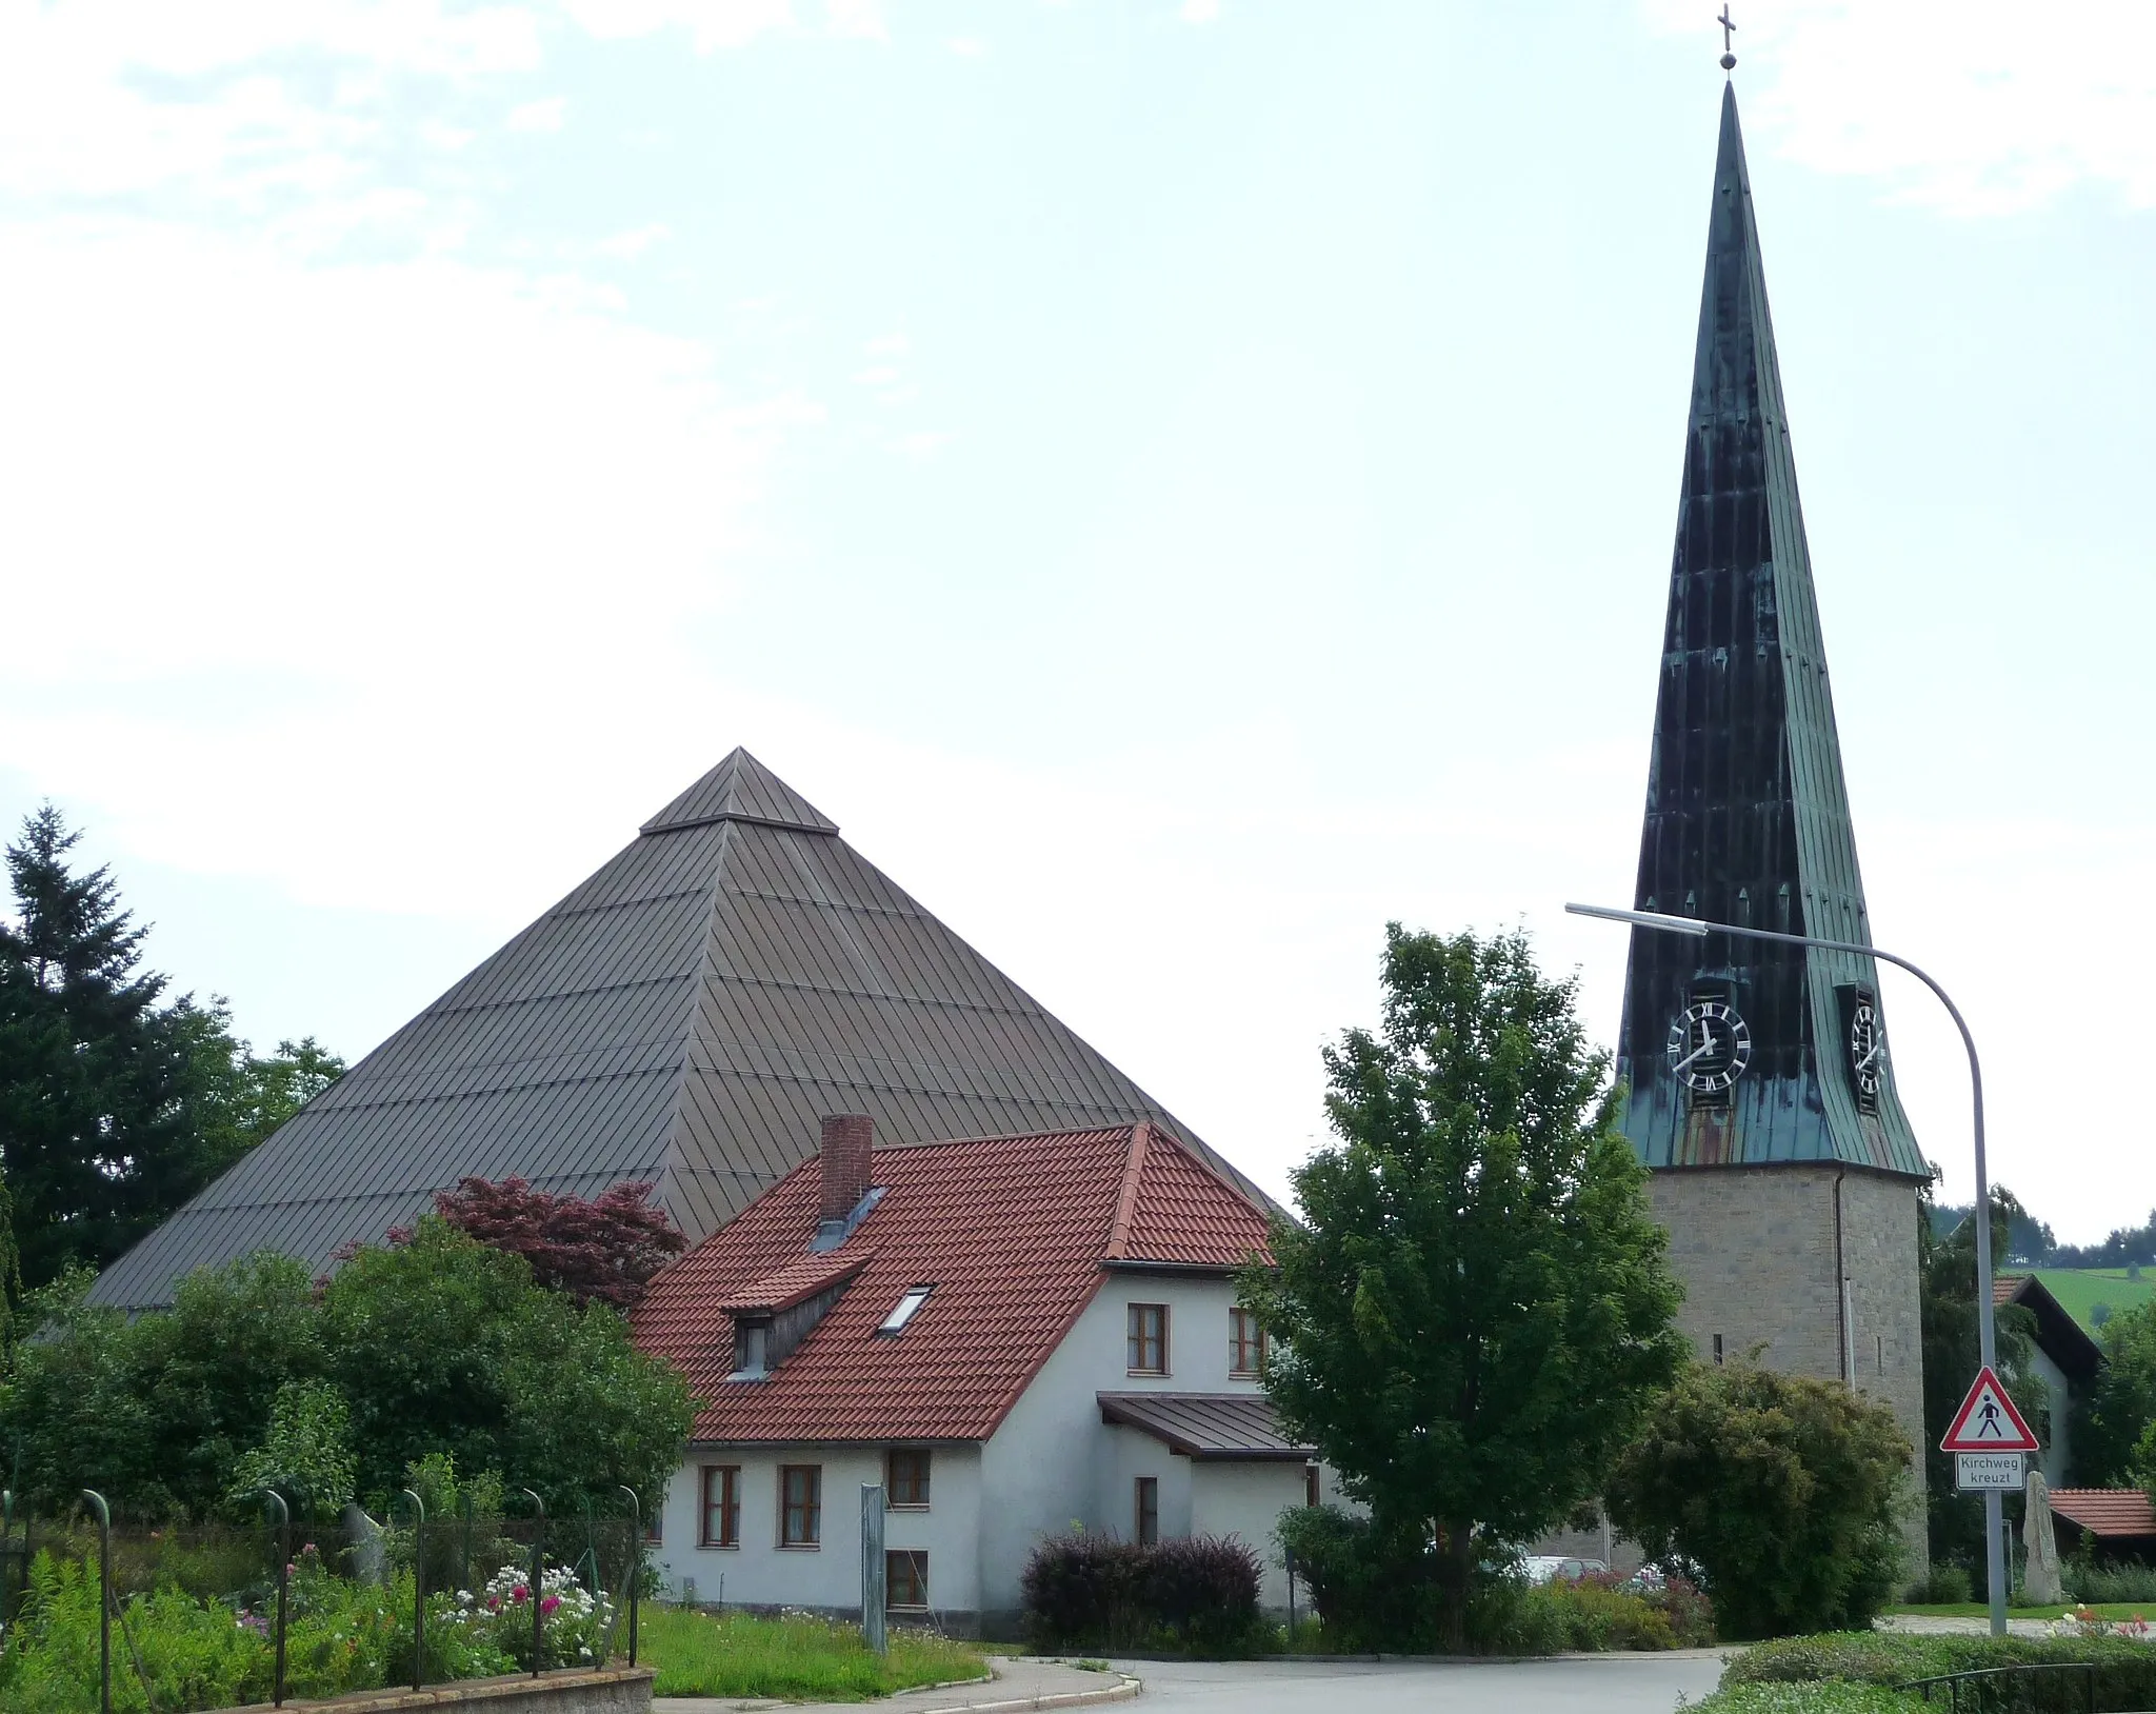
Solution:
{"label": "tall full green tree between the white house and the clock tower", "polygon": [[1453,1647],[1477,1561],[1593,1496],[1682,1363],[1667,1238],[1574,996],[1522,934],[1393,923],[1382,1031],[1326,1050],[1341,1143],[1294,1175],[1307,1225],[1274,1222],[1276,1268],[1242,1276],[1289,1432],[1386,1531],[1434,1535]]}

